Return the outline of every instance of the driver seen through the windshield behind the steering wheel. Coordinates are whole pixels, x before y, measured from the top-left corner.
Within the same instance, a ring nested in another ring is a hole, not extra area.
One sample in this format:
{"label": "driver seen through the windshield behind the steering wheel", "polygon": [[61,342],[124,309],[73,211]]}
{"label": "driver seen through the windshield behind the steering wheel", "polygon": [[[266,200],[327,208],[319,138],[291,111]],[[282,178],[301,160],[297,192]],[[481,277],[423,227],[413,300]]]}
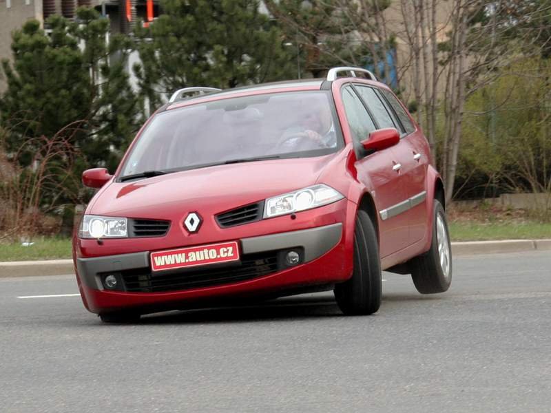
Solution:
{"label": "driver seen through the windshield behind the steering wheel", "polygon": [[286,147],[323,149],[337,146],[337,134],[333,126],[331,109],[326,100],[305,102],[297,125],[289,127],[282,134],[281,141]]}

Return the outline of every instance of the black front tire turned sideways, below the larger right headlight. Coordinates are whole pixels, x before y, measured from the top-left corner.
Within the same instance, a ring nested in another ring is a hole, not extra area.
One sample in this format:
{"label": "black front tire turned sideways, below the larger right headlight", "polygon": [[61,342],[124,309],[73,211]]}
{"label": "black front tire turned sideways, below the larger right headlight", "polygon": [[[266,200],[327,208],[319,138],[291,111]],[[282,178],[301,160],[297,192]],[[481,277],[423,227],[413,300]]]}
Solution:
{"label": "black front tire turned sideways, below the larger right headlight", "polygon": [[335,286],[335,299],[346,315],[373,314],[381,306],[382,275],[377,234],[365,211],[358,211],[351,279]]}

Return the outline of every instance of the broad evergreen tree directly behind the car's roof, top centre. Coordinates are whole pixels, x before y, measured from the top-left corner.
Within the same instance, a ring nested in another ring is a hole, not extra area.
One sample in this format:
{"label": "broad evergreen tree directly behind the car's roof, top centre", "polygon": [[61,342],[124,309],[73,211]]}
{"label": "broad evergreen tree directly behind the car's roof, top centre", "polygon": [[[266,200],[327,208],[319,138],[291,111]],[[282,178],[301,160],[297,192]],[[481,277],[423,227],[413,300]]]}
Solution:
{"label": "broad evergreen tree directly behind the car's roof, top centre", "polygon": [[189,86],[236,87],[293,77],[293,53],[258,0],[164,0],[149,28],[137,28],[134,67],[152,105]]}

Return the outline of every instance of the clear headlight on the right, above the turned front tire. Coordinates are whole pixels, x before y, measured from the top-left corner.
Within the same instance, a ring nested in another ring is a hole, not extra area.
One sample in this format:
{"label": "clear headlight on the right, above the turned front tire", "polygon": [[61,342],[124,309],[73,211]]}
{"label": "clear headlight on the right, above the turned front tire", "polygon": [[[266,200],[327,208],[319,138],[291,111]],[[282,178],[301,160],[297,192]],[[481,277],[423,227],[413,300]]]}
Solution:
{"label": "clear headlight on the right, above the turned front tire", "polygon": [[342,193],[327,185],[314,185],[268,198],[264,207],[264,218],[322,207],[322,205],[331,204],[331,202],[342,200],[342,198],[344,198]]}

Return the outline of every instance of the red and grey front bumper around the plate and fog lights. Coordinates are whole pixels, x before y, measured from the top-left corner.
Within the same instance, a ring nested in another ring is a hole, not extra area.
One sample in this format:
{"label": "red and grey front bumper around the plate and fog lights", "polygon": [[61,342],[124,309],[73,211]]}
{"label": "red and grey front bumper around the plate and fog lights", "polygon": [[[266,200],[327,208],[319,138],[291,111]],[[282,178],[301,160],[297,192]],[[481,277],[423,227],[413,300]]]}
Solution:
{"label": "red and grey front bumper around the plate and fog lights", "polygon": [[[203,266],[152,275],[149,251],[76,258],[79,286],[85,306],[93,313],[128,307],[170,307],[182,301],[273,293],[286,288],[331,284],[347,279],[343,224],[329,224],[300,231],[245,237],[240,240],[242,262]],[[282,254],[301,253],[297,266],[286,266]],[[246,267],[247,265],[247,267]],[[201,271],[203,271],[201,273]],[[121,280],[121,290],[103,286],[106,275]]]}

